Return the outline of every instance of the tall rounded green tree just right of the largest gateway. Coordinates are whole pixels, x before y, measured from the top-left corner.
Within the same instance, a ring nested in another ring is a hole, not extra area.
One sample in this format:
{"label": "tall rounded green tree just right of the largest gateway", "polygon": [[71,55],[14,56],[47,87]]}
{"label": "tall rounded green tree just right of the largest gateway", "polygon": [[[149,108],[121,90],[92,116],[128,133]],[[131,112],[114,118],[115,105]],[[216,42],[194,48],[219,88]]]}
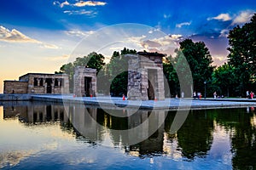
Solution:
{"label": "tall rounded green tree just right of the largest gateway", "polygon": [[[176,71],[184,77],[179,77],[184,83],[188,80],[188,68],[186,61],[189,64],[192,73],[194,89],[197,92],[204,91],[204,82],[210,81],[212,71],[215,66],[212,66],[212,56],[204,42],[193,42],[191,39],[185,39],[180,42],[180,48],[176,50],[176,58],[174,65]],[[186,61],[184,60],[186,59]]]}

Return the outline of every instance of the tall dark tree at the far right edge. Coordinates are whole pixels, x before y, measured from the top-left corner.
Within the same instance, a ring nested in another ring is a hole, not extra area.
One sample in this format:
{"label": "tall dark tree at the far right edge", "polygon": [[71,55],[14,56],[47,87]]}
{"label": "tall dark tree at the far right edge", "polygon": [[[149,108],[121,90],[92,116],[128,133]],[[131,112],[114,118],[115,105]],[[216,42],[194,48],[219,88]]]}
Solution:
{"label": "tall dark tree at the far right edge", "polygon": [[248,88],[253,88],[256,81],[256,14],[250,23],[230,30],[228,38],[228,63],[235,68],[238,84],[236,90],[243,95]]}

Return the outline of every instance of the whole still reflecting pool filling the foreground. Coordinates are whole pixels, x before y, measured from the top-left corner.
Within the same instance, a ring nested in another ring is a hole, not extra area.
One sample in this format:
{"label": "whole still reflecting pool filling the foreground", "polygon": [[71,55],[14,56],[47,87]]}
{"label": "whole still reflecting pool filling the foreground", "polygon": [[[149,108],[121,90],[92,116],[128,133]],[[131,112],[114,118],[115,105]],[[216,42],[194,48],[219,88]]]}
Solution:
{"label": "whole still reflecting pool filling the foreground", "polygon": [[0,168],[256,169],[253,107],[192,110],[174,133],[176,111],[131,112],[2,102]]}

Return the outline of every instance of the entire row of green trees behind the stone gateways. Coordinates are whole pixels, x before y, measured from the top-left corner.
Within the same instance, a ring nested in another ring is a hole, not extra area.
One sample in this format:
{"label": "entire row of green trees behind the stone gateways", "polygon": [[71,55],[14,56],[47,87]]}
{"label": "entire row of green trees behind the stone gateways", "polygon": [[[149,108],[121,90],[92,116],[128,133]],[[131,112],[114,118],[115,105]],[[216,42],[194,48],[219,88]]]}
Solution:
{"label": "entire row of green trees behind the stone gateways", "polygon": [[[191,39],[179,42],[180,46],[175,50],[175,56],[163,58],[163,71],[172,96],[181,93],[180,82],[193,84],[191,91],[201,92],[202,95],[207,92],[207,97],[212,97],[213,92],[224,97],[237,97],[245,96],[247,90],[256,91],[256,14],[250,22],[230,30],[228,39],[228,61],[218,67],[212,65],[212,55],[206,44],[193,42]],[[76,66],[95,68],[101,71],[97,77],[101,79],[100,86],[104,87],[109,83],[110,93],[120,96],[127,93],[128,60],[124,54],[137,54],[137,51],[129,48],[124,48],[120,52],[114,51],[108,64],[105,63],[102,54],[93,52],[62,65],[60,71],[55,73],[66,73],[69,76],[70,87],[73,87]],[[186,82],[188,79],[183,59],[189,64],[193,82]],[[177,77],[177,71],[182,72],[184,77]],[[102,89],[99,93],[105,93],[103,88],[99,89]],[[72,88],[70,90],[73,92]],[[191,96],[188,93],[186,95]]]}

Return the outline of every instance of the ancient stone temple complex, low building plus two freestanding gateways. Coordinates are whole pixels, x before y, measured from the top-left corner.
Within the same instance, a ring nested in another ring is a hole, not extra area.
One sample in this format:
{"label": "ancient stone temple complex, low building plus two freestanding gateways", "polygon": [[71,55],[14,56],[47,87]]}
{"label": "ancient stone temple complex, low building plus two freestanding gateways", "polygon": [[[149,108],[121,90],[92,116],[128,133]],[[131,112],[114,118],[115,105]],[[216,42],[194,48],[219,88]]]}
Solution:
{"label": "ancient stone temple complex, low building plus two freestanding gateways", "polygon": [[[165,54],[138,52],[128,58],[128,100],[165,99],[162,57]],[[77,66],[73,76],[73,94],[97,95],[96,69]],[[69,94],[66,74],[27,73],[19,81],[4,81],[3,94]]]}

